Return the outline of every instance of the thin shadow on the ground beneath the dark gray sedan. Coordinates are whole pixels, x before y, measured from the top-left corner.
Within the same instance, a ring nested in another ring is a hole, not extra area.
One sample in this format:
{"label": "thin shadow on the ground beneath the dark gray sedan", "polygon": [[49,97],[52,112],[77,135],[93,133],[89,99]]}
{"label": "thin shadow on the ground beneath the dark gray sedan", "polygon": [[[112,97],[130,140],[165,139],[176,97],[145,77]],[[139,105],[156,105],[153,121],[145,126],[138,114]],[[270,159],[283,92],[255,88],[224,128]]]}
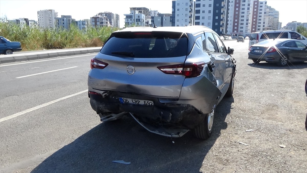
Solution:
{"label": "thin shadow on the ground beneath the dark gray sedan", "polygon": [[276,65],[275,63],[268,63],[268,62],[260,62],[260,63],[250,63],[247,64],[251,67],[255,68],[261,68],[261,69],[305,69],[307,68],[307,62],[292,62],[289,65],[286,65],[284,67],[280,67]]}

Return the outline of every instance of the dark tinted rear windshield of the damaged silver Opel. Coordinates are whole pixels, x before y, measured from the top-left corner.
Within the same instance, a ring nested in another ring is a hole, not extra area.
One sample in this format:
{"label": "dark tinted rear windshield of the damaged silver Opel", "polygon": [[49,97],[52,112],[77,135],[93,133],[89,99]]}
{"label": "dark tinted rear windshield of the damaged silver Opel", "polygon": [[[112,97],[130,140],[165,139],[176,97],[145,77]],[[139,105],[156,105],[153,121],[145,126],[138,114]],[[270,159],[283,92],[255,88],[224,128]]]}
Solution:
{"label": "dark tinted rear windshield of the damaged silver Opel", "polygon": [[186,56],[188,39],[174,32],[118,32],[100,53],[116,57],[161,58]]}

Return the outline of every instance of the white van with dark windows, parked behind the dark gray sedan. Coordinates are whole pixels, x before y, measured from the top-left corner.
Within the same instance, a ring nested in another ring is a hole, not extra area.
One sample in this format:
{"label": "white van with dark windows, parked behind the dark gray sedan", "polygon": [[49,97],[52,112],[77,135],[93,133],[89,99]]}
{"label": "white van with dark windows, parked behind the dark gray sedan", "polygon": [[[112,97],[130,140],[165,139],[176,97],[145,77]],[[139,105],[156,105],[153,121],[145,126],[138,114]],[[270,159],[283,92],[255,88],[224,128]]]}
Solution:
{"label": "white van with dark windows, parked behind the dark gray sedan", "polygon": [[302,36],[298,32],[291,31],[291,30],[270,30],[270,31],[255,32],[255,33],[251,33],[251,36],[249,36],[249,38],[250,40],[249,40],[248,48],[250,48],[251,45],[256,44],[260,41],[264,41],[267,39],[274,39],[274,38],[298,39],[307,45],[306,37]]}

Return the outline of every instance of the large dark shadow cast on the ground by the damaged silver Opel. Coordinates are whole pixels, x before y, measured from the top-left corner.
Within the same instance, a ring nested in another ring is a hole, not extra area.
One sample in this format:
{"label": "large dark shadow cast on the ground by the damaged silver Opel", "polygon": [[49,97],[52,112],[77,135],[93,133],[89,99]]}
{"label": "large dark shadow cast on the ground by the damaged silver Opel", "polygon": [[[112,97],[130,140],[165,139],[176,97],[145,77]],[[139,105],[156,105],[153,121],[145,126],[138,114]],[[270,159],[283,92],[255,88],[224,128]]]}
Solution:
{"label": "large dark shadow cast on the ground by the damaged silver Opel", "polygon": [[216,107],[214,131],[208,140],[196,139],[191,132],[181,138],[160,136],[129,116],[97,125],[46,158],[32,173],[199,172],[221,130],[227,128],[225,119],[233,102],[233,97],[224,98]]}

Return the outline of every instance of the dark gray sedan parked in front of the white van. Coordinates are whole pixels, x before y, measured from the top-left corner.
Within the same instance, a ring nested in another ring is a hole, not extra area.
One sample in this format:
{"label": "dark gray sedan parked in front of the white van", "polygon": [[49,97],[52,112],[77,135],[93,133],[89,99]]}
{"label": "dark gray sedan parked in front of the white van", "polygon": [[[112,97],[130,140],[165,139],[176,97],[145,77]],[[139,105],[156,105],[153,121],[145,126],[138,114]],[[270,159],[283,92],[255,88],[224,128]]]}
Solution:
{"label": "dark gray sedan parked in front of the white van", "polygon": [[285,66],[289,62],[307,61],[307,45],[295,39],[270,39],[250,47],[248,59],[277,63]]}

